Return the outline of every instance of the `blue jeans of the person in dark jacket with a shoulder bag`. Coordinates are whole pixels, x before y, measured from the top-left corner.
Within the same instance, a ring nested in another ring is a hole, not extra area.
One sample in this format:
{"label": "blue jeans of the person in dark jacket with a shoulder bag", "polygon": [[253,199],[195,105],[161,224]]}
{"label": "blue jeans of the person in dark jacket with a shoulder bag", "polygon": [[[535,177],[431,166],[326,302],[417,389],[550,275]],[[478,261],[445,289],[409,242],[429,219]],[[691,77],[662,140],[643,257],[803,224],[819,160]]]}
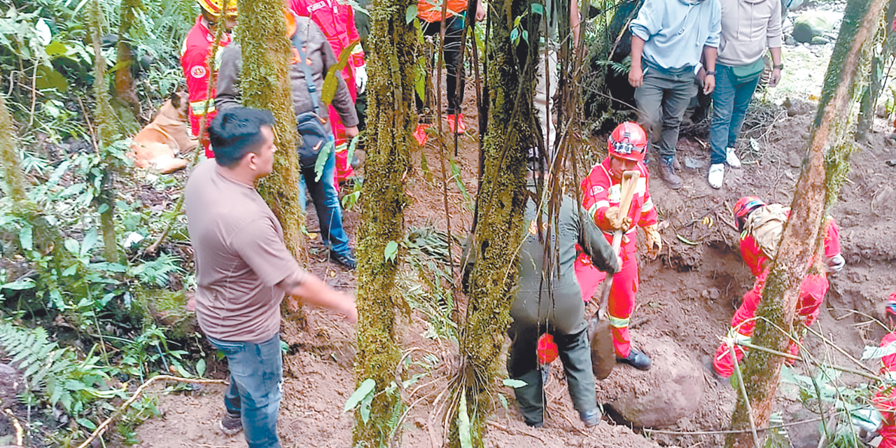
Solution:
{"label": "blue jeans of the person in dark jacket with a shoulder bag", "polygon": [[300,169],[302,177],[298,182],[298,201],[302,210],[304,211],[307,206],[305,198],[307,188],[311,194],[311,201],[314,202],[314,210],[317,211],[317,220],[321,224],[323,244],[329,246],[336,254],[350,254],[349,236],[342,228],[342,206],[339,203],[339,194],[336,192],[333,177],[336,169],[336,152],[331,151],[330,158],[323,165],[321,180],[314,180],[317,177],[314,167]]}

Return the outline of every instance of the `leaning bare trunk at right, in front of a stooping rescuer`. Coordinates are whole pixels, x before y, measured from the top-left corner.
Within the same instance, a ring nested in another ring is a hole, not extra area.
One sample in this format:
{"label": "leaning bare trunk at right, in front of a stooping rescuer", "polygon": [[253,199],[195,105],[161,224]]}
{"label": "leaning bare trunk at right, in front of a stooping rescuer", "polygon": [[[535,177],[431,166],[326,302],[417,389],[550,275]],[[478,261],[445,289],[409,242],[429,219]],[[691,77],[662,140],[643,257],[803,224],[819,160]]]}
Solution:
{"label": "leaning bare trunk at right, in front of a stooping rescuer", "polygon": [[[834,47],[825,76],[822,100],[811,129],[808,159],[798,181],[791,204],[790,219],[781,237],[778,254],[762,290],[753,343],[783,352],[789,338],[801,280],[809,272],[823,272],[820,234],[825,207],[833,203],[849,171],[852,108],[859,67],[867,59],[867,41],[874,36],[886,0],[849,0],[840,25],[840,37]],[[828,150],[830,148],[830,151]],[[814,259],[814,264],[810,266]],[[777,328],[788,332],[785,334]],[[757,427],[767,426],[778,392],[784,358],[754,350],[745,359],[744,383],[754,411]],[[750,428],[744,397],[737,401],[731,429]],[[762,437],[762,435],[760,435]],[[760,441],[762,443],[762,441]],[[753,447],[750,431],[729,434],[726,446]]]}

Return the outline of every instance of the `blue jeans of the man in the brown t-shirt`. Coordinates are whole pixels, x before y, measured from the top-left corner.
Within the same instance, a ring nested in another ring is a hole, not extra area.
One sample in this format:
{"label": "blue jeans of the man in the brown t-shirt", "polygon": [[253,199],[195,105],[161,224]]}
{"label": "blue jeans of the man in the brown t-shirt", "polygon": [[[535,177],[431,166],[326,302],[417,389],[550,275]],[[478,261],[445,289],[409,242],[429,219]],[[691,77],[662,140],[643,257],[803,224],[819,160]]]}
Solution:
{"label": "blue jeans of the man in the brown t-shirt", "polygon": [[260,344],[213,338],[209,341],[227,356],[230,386],[224,393],[224,407],[228,413],[242,416],[249,448],[280,448],[277,437],[283,379],[280,335]]}

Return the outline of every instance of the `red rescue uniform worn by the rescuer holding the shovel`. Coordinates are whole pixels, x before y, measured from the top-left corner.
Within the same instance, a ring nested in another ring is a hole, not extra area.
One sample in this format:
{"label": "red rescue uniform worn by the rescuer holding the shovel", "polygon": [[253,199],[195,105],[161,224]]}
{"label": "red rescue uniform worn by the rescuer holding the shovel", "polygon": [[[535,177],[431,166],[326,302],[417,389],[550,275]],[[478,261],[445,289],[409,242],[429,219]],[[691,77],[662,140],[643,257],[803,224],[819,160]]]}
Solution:
{"label": "red rescue uniform worn by the rescuer holding the shovel", "polygon": [[[625,358],[632,348],[632,338],[628,333],[628,324],[634,311],[635,294],[638,292],[638,259],[637,228],[657,223],[657,210],[650,199],[650,173],[647,167],[638,162],[635,167],[640,173],[638,184],[632,198],[632,206],[628,217],[632,219],[632,228],[623,236],[619,254],[622,257],[622,270],[613,275],[613,285],[607,303],[610,325],[613,328],[613,346],[616,357]],[[582,207],[593,217],[598,228],[603,230],[607,241],[613,241],[613,228],[607,220],[607,209],[618,207],[622,195],[620,181],[610,177],[610,158],[591,168],[588,177],[582,180]],[[586,302],[594,295],[594,291],[607,274],[598,271],[591,265],[587,255],[580,251],[575,261],[575,276],[582,288],[582,299]]]}

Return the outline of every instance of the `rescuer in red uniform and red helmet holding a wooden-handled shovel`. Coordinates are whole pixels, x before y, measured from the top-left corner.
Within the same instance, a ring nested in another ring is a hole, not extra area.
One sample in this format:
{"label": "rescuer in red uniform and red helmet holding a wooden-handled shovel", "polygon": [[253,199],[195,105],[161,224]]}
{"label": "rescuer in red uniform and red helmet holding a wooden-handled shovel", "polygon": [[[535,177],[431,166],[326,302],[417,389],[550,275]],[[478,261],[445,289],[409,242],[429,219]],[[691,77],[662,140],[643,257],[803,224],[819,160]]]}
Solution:
{"label": "rescuer in red uniform and red helmet holding a wooden-handled shovel", "polygon": [[[663,245],[657,225],[657,210],[650,199],[650,173],[643,163],[644,153],[647,151],[647,134],[640,125],[625,122],[616,126],[613,134],[610,134],[607,151],[607,158],[591,168],[588,177],[582,180],[582,207],[588,210],[588,216],[603,230],[607,241],[612,241],[614,230],[621,229],[625,232],[620,249],[622,270],[613,277],[607,311],[613,330],[616,361],[648,370],[650,357],[641,350],[632,348],[632,338],[628,333],[628,323],[634,311],[634,297],[638,292],[636,229],[644,229],[650,258],[656,257]],[[619,216],[623,173],[631,170],[638,171],[640,177],[628,215]],[[606,277],[589,263],[587,257],[581,255],[575,263],[575,275],[582,286],[582,299],[585,302],[590,300],[598,284]]]}

